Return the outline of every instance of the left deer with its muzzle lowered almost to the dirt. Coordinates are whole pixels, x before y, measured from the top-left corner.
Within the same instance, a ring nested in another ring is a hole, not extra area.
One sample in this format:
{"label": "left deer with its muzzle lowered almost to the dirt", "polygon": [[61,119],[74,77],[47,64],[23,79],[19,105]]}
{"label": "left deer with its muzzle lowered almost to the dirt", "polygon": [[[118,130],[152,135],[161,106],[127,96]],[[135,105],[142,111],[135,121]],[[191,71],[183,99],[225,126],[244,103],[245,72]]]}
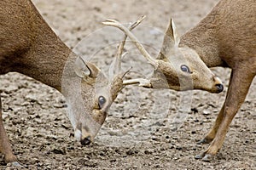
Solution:
{"label": "left deer with its muzzle lowered almost to the dirt", "polygon": [[[142,20],[133,23],[130,30]],[[55,88],[67,99],[67,115],[82,145],[92,143],[108,115],[108,108],[125,87],[121,58],[125,38],[106,77],[93,63],[67,47],[52,31],[30,0],[0,2],[0,74],[19,72]],[[20,166],[3,127],[0,97],[0,153],[4,161]],[[21,166],[22,167],[22,166]]]}

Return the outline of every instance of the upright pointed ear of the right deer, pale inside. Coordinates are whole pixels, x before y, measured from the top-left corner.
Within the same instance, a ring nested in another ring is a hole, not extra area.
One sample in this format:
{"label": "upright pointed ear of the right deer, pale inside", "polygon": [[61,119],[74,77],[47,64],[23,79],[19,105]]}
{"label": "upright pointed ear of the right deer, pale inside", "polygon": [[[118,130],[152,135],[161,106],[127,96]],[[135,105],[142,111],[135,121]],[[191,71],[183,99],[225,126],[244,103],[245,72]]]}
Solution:
{"label": "upright pointed ear of the right deer, pale inside", "polygon": [[176,26],[171,18],[169,25],[165,32],[162,48],[160,50],[160,59],[166,59],[170,52],[177,47],[179,43],[179,37],[177,36]]}

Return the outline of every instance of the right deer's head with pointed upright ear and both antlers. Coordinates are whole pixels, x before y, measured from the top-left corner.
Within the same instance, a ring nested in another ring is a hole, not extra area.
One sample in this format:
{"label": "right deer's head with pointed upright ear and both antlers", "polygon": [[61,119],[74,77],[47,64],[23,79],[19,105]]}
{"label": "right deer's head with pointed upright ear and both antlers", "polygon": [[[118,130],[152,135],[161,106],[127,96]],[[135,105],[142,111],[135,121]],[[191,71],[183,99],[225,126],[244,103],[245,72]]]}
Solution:
{"label": "right deer's head with pointed upright ear and both antlers", "polygon": [[[150,80],[133,79],[125,81],[125,84],[140,83],[148,88],[171,88],[175,90],[201,89],[211,93],[223,91],[222,82],[205,65],[194,49],[180,46],[176,27],[170,20],[166,30],[162,48],[157,59],[151,57],[138,42],[131,31],[122,26],[116,20],[107,20],[105,25],[118,27],[131,38],[139,51],[154,66],[154,74]],[[164,84],[167,82],[167,86]]]}

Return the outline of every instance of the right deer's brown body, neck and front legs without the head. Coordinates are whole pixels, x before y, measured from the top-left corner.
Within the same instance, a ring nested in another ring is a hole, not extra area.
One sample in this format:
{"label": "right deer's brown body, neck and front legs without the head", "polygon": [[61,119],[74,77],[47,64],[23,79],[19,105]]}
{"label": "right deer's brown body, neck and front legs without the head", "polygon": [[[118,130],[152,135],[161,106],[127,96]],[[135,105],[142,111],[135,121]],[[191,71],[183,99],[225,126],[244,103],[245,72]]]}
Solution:
{"label": "right deer's brown body, neck and front legs without the head", "polygon": [[209,161],[224,143],[256,75],[256,3],[254,0],[221,0],[207,17],[181,37],[180,46],[195,49],[209,67],[230,67],[230,86],[212,130],[201,143],[212,144],[196,156]]}

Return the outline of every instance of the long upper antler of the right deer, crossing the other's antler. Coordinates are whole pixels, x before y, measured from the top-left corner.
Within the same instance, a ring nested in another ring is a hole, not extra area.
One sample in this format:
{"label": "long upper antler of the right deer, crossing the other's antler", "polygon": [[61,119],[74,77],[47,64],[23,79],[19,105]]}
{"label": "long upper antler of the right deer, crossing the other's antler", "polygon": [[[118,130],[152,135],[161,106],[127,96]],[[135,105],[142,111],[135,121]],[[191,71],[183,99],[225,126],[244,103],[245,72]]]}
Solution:
{"label": "long upper antler of the right deer, crossing the other's antler", "polygon": [[[143,54],[143,56],[148,59],[148,62],[150,65],[153,65],[155,69],[158,68],[158,63],[155,61],[154,58],[152,58],[150,56],[150,54],[148,54],[148,52],[146,51],[146,49],[143,47],[143,45],[138,42],[137,40],[137,37],[135,37],[131,31],[126,28],[125,26],[123,26],[122,24],[119,23],[119,21],[117,20],[106,20],[104,22],[102,22],[104,25],[107,25],[107,26],[115,26],[117,28],[119,28],[121,31],[124,31],[126,36],[130,37],[131,38],[131,41],[135,43],[135,45],[137,46],[137,48],[139,49],[139,51],[141,52],[141,54]],[[140,22],[139,22],[140,23]],[[139,24],[138,23],[138,24]],[[137,24],[135,23],[134,24],[135,26],[137,26]],[[133,25],[131,25],[133,26]]]}

